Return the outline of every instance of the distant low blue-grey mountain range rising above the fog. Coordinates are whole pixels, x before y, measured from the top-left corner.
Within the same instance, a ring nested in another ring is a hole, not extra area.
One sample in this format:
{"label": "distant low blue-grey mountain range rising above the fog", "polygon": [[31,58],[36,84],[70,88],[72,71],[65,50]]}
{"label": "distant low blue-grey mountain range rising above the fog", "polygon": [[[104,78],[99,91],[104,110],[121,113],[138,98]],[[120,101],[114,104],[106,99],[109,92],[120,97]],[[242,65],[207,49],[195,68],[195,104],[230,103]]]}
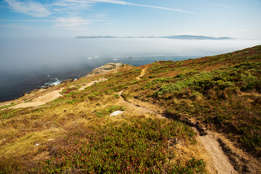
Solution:
{"label": "distant low blue-grey mountain range rising above the fog", "polygon": [[78,36],[76,39],[93,39],[93,38],[168,38],[168,39],[196,39],[196,40],[227,40],[233,39],[228,37],[206,37],[206,36],[193,36],[193,35],[180,35],[180,36],[163,36],[163,37],[112,37],[112,36]]}

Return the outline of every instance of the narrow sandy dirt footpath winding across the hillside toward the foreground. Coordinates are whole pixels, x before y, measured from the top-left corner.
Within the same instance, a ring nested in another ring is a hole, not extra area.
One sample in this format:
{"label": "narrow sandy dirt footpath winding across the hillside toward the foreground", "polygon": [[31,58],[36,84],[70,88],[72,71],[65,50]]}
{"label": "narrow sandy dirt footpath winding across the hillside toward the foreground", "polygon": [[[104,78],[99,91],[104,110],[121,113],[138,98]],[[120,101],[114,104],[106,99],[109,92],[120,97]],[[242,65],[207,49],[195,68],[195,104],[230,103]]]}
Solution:
{"label": "narrow sandy dirt footpath winding across the hillside toward the foreground", "polygon": [[[145,72],[145,70],[144,70]],[[138,78],[138,77],[137,77]],[[132,103],[129,103],[125,101],[121,94],[123,91],[119,92],[120,98],[118,99],[118,103],[120,105],[125,106],[129,111],[137,113],[137,114],[142,114],[142,113],[153,113],[156,114],[159,118],[165,118],[162,115],[153,112],[145,107],[140,107],[140,106],[135,106]],[[199,135],[200,133],[198,130],[194,127],[192,127],[197,134]],[[212,158],[213,161],[213,166],[216,168],[218,171],[218,174],[237,174],[238,172],[235,171],[234,167],[230,164],[228,157],[224,154],[222,151],[222,148],[218,142],[218,137],[207,132],[206,135],[199,136],[199,140],[202,142],[204,145],[205,149],[209,153],[210,157]]]}

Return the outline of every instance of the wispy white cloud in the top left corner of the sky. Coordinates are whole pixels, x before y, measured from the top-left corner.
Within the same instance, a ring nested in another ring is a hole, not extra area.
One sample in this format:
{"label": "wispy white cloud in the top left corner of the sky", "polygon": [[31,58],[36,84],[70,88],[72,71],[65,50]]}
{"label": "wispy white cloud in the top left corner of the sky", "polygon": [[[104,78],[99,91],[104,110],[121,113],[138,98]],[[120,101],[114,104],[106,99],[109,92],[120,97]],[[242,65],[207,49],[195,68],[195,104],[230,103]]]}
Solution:
{"label": "wispy white cloud in the top left corner of the sky", "polygon": [[5,0],[9,7],[19,13],[24,13],[35,17],[46,17],[51,12],[43,5],[33,1],[16,1],[16,0]]}

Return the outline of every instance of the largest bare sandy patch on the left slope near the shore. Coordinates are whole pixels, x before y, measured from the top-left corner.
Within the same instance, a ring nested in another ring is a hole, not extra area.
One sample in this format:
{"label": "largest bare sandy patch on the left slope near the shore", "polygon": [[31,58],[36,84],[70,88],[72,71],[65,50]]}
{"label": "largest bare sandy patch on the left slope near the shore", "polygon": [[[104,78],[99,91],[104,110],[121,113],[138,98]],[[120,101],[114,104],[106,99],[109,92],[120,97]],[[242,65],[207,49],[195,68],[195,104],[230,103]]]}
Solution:
{"label": "largest bare sandy patch on the left slope near the shore", "polygon": [[33,99],[32,102],[20,103],[15,106],[11,106],[10,108],[16,109],[16,108],[20,108],[20,107],[43,105],[45,103],[48,103],[49,101],[52,101],[52,100],[57,99],[58,97],[62,96],[62,94],[60,94],[59,92],[61,92],[63,89],[64,88],[60,88],[59,90],[55,90],[55,91],[45,94],[43,96],[39,96],[39,97]]}

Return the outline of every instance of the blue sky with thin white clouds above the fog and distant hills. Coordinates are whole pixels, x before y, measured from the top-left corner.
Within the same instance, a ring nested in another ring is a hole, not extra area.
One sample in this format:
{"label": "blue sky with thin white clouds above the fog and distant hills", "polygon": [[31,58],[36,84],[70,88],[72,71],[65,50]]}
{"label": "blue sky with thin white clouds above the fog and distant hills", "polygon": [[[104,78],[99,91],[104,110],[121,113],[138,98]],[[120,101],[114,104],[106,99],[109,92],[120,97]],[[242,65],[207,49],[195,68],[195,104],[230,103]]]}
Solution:
{"label": "blue sky with thin white clouds above the fog and distant hills", "polygon": [[0,38],[107,35],[261,39],[261,1],[0,0]]}

